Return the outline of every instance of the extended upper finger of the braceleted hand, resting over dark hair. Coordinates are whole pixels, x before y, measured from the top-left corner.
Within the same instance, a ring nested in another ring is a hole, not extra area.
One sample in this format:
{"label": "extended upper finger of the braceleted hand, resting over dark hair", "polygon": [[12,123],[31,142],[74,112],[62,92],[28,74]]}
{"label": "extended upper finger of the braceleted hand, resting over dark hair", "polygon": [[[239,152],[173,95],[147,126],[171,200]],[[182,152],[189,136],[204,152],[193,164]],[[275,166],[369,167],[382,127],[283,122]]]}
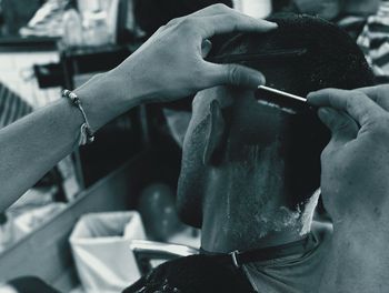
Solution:
{"label": "extended upper finger of the braceleted hand, resting over dark hair", "polygon": [[215,34],[229,32],[267,32],[278,28],[275,22],[253,19],[239,12],[203,17],[193,19],[198,21],[200,34],[203,39],[210,38]]}

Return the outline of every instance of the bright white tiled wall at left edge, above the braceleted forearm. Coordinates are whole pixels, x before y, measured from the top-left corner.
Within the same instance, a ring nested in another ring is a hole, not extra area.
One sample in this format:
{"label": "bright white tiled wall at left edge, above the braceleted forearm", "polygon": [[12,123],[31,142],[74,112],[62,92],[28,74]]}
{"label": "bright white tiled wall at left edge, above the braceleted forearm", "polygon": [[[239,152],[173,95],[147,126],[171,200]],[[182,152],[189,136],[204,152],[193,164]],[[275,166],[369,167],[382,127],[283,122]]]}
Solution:
{"label": "bright white tiled wall at left edge, above the braceleted forearm", "polygon": [[60,88],[39,89],[32,65],[51,62],[59,62],[57,51],[1,52],[0,82],[17,92],[33,108],[40,108],[60,98]]}

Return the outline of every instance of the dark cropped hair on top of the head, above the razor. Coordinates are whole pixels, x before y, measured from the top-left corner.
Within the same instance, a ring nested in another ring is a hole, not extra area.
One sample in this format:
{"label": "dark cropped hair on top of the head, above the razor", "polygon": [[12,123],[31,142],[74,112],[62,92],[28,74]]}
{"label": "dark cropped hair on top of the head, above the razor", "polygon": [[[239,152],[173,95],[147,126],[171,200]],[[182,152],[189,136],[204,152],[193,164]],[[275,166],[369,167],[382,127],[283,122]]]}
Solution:
{"label": "dark cropped hair on top of the head, above the razor", "polygon": [[362,52],[338,27],[319,18],[289,13],[275,16],[270,21],[279,28],[260,36],[238,34],[217,55],[222,55],[223,62],[242,55],[241,63],[262,71],[268,85],[299,95],[323,88],[372,84]]}

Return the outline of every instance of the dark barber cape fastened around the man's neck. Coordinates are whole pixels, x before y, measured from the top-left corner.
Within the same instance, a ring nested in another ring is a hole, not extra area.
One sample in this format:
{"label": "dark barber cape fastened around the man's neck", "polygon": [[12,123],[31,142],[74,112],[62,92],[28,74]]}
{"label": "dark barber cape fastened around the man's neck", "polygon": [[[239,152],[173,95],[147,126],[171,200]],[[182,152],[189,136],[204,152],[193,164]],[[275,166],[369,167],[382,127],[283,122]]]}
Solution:
{"label": "dark barber cape fastened around the man's neck", "polygon": [[237,254],[209,254],[161,264],[124,293],[301,293],[315,292],[332,228],[312,223],[302,240]]}

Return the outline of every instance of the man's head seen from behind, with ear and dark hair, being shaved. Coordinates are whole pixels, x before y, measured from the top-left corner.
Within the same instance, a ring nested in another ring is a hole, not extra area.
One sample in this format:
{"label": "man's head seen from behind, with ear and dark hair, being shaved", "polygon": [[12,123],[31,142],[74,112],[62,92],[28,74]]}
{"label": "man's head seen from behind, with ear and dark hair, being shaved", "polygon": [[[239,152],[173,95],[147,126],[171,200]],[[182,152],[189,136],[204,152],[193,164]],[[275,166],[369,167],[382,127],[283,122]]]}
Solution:
{"label": "man's head seen from behind, with ear and dark hair, being shaved", "polygon": [[[241,60],[260,70],[268,85],[302,97],[372,84],[363,54],[340,29],[311,17],[272,20],[278,30],[236,36],[217,52],[218,60]],[[192,111],[178,191],[184,222],[201,226],[217,189],[226,196],[241,191],[235,204],[242,213],[303,209],[319,186],[320,152],[329,139],[315,112],[285,112],[258,102],[253,91],[228,87],[199,92]]]}

